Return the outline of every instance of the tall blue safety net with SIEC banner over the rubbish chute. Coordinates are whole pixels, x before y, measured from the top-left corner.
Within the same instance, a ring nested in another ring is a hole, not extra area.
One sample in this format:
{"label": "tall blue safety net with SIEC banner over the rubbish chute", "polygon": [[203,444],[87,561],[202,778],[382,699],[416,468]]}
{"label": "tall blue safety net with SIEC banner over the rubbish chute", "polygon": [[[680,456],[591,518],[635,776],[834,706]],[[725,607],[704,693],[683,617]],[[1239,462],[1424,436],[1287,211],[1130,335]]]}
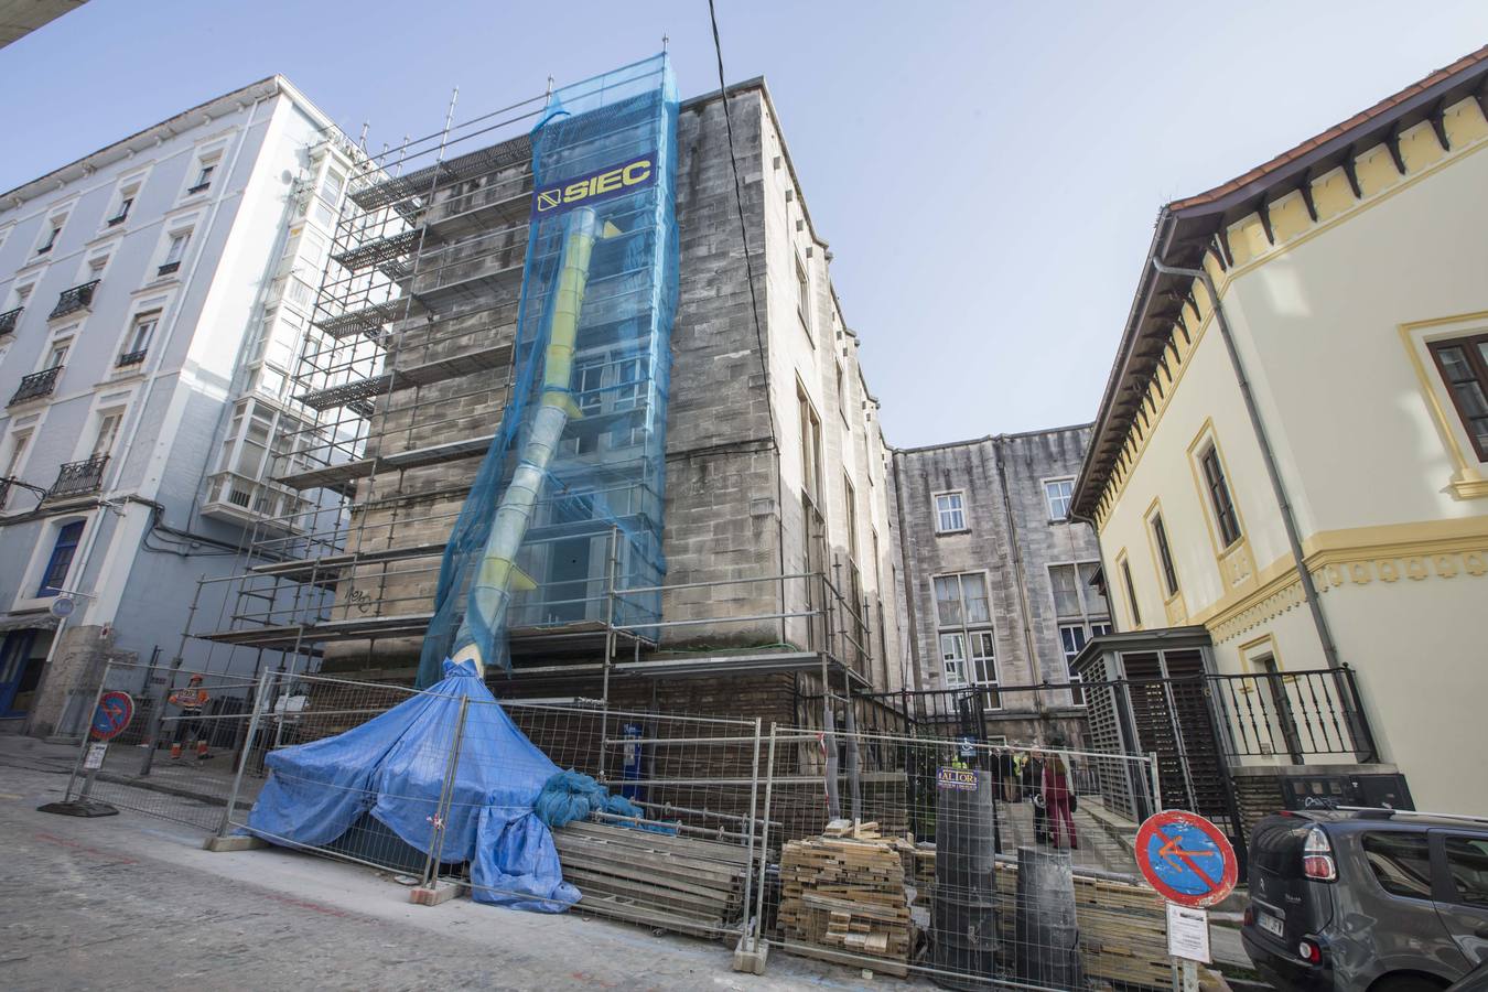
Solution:
{"label": "tall blue safety net with SIEC banner over the rubbish chute", "polygon": [[661,619],[676,135],[665,55],[557,91],[533,131],[516,382],[445,549],[421,687],[446,657],[509,671],[509,629]]}

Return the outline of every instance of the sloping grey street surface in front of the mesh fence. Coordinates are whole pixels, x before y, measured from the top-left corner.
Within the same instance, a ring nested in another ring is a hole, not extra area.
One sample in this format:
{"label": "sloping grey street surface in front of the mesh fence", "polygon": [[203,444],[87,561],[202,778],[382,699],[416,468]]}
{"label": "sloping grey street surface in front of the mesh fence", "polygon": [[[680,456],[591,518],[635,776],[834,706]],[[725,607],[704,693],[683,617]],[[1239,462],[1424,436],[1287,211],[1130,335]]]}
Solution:
{"label": "sloping grey street surface in front of the mesh fence", "polygon": [[[638,927],[454,900],[408,903],[390,876],[278,848],[208,854],[150,817],[36,812],[76,751],[0,739],[0,976],[7,989],[860,989],[857,973]],[[896,988],[921,988],[917,983]],[[924,986],[929,988],[929,986]]]}

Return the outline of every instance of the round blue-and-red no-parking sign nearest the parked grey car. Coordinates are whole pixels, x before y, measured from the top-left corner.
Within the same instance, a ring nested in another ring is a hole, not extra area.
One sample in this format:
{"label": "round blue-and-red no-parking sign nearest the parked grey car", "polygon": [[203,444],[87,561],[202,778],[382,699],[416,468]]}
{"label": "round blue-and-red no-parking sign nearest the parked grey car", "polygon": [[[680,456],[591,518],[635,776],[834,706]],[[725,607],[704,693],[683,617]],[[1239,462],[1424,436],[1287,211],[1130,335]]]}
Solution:
{"label": "round blue-and-red no-parking sign nearest the parked grey car", "polygon": [[1198,814],[1167,809],[1137,830],[1137,869],[1164,898],[1204,909],[1235,889],[1240,863],[1229,837]]}

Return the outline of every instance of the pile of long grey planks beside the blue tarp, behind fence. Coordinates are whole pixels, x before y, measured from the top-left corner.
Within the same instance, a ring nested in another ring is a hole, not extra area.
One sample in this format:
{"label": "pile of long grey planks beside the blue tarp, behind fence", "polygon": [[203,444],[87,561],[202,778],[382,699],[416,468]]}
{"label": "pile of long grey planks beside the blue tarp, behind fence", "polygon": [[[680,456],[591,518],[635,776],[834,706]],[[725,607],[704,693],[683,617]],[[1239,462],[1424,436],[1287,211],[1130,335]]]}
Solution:
{"label": "pile of long grey planks beside the blue tarp, behind fence", "polygon": [[585,821],[554,830],[554,845],[580,912],[710,938],[744,918],[738,845]]}

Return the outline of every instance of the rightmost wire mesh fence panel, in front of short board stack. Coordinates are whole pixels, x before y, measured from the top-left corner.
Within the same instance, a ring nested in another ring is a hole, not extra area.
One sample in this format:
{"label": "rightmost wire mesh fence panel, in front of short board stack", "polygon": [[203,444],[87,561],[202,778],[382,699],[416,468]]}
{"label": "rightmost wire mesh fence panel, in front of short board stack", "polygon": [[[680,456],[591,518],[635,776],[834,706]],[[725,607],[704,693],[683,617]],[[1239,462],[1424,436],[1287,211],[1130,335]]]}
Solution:
{"label": "rightmost wire mesh fence panel, in front of short board stack", "polygon": [[1156,805],[1150,759],[796,727],[766,754],[753,940],[949,988],[1170,986],[1137,824],[1103,796]]}

